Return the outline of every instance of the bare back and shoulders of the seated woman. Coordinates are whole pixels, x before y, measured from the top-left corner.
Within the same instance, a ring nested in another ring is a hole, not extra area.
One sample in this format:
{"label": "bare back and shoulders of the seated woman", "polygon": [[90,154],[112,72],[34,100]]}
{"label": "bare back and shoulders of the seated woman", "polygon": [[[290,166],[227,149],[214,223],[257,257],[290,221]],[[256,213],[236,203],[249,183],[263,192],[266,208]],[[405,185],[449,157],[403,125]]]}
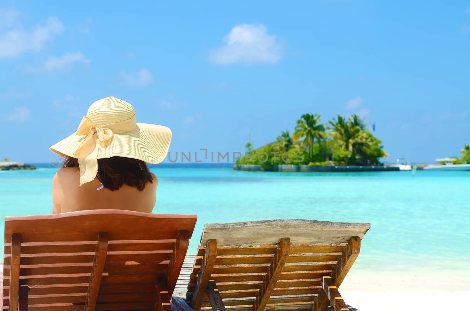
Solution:
{"label": "bare back and shoulders of the seated woman", "polygon": [[78,167],[59,169],[52,182],[53,213],[65,213],[77,210],[134,210],[151,213],[156,201],[157,177],[147,183],[144,190],[123,185],[118,190],[107,188],[97,190],[102,186],[94,179],[79,186],[80,173]]}

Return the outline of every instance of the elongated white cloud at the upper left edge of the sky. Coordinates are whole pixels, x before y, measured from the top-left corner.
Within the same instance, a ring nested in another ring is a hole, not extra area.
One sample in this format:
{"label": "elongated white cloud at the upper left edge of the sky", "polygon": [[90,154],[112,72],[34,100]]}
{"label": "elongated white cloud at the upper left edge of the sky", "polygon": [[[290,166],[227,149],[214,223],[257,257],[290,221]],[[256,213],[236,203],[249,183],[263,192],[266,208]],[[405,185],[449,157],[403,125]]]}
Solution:
{"label": "elongated white cloud at the upper left edge of the sky", "polygon": [[21,25],[0,33],[0,58],[16,57],[25,52],[40,51],[44,44],[63,32],[63,24],[57,17],[49,17],[45,25],[37,25],[25,31]]}

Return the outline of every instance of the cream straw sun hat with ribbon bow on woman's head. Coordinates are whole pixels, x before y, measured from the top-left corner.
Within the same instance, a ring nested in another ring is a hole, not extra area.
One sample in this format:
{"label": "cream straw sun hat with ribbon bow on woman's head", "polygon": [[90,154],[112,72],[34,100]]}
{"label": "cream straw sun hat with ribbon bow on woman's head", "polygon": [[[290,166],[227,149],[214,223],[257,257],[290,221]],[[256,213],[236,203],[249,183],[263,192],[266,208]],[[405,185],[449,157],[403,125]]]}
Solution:
{"label": "cream straw sun hat with ribbon bow on woman's head", "polygon": [[157,164],[166,157],[171,140],[168,127],[136,123],[131,104],[107,97],[90,106],[77,132],[50,149],[78,158],[81,186],[96,177],[97,159],[124,156]]}

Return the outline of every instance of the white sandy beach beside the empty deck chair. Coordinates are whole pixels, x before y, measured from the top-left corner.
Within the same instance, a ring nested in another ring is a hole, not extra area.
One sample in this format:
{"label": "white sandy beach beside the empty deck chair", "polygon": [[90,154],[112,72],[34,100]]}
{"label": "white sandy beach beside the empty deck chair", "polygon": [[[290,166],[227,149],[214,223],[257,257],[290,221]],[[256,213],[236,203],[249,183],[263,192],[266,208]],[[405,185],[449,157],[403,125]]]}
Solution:
{"label": "white sandy beach beside the empty deck chair", "polygon": [[[0,263],[3,282],[3,264]],[[354,311],[468,311],[470,271],[348,273],[340,293]],[[3,290],[1,290],[3,293]],[[3,299],[0,300],[0,310]]]}

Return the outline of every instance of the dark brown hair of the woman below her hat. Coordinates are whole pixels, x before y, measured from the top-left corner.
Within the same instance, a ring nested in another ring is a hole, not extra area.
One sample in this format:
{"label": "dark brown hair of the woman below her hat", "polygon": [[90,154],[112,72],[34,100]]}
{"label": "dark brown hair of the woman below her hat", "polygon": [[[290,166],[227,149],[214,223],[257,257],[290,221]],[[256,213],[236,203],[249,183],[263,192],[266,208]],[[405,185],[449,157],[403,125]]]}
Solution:
{"label": "dark brown hair of the woman below her hat", "polygon": [[[61,162],[62,167],[78,168],[78,159],[76,158],[62,156]],[[148,182],[153,182],[147,163],[122,156],[98,159],[98,174],[96,177],[105,188],[111,191],[118,190],[124,184],[142,191]]]}

